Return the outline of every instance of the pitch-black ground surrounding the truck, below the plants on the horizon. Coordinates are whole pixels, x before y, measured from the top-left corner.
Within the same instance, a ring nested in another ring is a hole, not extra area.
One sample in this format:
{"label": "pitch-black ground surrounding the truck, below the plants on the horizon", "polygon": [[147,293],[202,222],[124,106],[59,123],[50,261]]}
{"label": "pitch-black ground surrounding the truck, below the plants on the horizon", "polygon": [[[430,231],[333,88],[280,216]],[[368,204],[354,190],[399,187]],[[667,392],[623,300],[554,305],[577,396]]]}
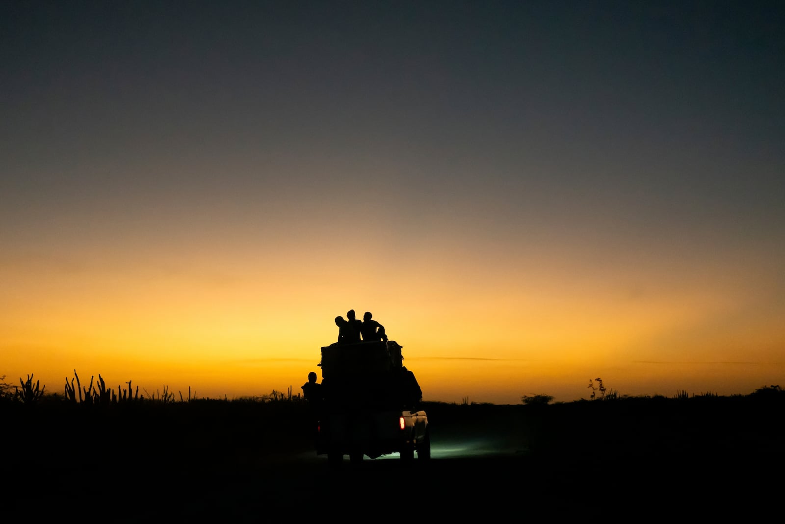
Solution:
{"label": "pitch-black ground surrounding the truck, below the plants on the horizon", "polygon": [[548,519],[750,519],[780,505],[782,408],[779,398],[436,404],[426,407],[429,462],[346,460],[340,471],[310,449],[297,410],[15,412],[3,446],[3,516],[416,522],[547,511]]}

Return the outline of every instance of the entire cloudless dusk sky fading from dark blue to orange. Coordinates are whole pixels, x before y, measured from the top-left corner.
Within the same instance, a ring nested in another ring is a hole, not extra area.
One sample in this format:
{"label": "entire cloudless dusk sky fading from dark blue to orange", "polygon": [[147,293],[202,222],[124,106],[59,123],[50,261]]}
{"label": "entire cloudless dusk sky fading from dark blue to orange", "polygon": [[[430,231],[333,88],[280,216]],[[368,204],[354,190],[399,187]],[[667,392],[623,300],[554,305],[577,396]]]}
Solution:
{"label": "entire cloudless dusk sky fading from dark blue to orange", "polygon": [[783,2],[2,2],[0,376],[785,386]]}

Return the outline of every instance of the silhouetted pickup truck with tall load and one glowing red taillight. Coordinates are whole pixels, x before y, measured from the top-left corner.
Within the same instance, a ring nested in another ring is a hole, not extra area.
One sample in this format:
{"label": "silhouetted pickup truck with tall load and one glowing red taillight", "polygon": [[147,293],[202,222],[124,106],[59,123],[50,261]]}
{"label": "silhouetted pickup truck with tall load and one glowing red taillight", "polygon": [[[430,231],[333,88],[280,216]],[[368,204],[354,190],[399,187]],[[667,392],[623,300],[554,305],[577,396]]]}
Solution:
{"label": "silhouetted pickup truck with tall load and one glowing red taillight", "polygon": [[351,463],[399,453],[400,459],[429,460],[428,415],[422,390],[403,366],[394,341],[333,344],[322,348],[323,409],[316,453],[331,467],[345,455]]}

